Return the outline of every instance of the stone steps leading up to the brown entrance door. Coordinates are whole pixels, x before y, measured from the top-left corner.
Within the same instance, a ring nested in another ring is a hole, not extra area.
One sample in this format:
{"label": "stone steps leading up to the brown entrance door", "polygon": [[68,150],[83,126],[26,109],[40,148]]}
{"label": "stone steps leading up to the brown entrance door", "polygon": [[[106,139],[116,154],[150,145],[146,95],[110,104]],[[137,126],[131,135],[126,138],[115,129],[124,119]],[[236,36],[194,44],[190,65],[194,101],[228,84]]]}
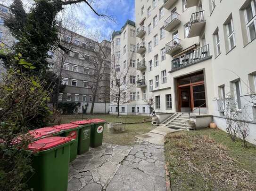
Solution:
{"label": "stone steps leading up to the brown entrance door", "polygon": [[194,130],[195,127],[192,124],[193,121],[190,120],[188,113],[174,113],[159,125],[174,130]]}

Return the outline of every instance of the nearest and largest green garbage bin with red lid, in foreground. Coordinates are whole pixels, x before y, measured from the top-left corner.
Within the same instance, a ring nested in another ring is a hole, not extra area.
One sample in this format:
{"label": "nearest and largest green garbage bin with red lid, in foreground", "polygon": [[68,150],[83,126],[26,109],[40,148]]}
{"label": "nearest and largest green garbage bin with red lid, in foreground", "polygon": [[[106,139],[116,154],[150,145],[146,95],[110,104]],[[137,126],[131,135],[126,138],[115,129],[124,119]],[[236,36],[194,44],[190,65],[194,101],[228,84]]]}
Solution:
{"label": "nearest and largest green garbage bin with red lid, in foreground", "polygon": [[34,191],[66,191],[70,145],[74,143],[70,137],[42,138],[28,145],[32,154],[34,174],[28,174],[29,188]]}

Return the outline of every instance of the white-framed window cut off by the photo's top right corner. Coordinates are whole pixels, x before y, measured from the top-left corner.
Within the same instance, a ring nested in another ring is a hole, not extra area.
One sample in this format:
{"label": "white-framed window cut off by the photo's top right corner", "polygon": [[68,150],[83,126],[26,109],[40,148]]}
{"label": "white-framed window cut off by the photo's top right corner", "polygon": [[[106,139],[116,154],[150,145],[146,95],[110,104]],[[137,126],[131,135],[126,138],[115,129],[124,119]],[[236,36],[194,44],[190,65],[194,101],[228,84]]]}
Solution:
{"label": "white-framed window cut off by the photo's top right corner", "polygon": [[256,38],[256,0],[251,0],[245,9],[249,42]]}

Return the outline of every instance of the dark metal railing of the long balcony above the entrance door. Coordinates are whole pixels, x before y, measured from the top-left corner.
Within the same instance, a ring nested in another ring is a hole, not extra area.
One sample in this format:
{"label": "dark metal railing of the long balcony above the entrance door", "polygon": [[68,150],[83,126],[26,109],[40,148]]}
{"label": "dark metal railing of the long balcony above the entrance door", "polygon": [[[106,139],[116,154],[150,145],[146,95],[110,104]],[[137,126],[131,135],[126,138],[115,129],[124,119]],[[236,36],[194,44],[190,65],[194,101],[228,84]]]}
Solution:
{"label": "dark metal railing of the long balcony above the entrance door", "polygon": [[190,52],[172,60],[172,70],[204,60],[208,56],[210,56],[209,45],[202,46],[196,50],[191,50]]}

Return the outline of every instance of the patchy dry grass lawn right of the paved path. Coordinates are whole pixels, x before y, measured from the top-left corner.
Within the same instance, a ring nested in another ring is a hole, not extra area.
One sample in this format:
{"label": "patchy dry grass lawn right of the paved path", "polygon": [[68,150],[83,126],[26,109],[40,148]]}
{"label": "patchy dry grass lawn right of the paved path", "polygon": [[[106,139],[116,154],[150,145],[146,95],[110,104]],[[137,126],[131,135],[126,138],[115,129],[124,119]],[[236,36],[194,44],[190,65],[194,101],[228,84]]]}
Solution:
{"label": "patchy dry grass lawn right of the paved path", "polygon": [[256,146],[244,148],[210,128],[168,134],[165,140],[172,191],[256,190]]}

